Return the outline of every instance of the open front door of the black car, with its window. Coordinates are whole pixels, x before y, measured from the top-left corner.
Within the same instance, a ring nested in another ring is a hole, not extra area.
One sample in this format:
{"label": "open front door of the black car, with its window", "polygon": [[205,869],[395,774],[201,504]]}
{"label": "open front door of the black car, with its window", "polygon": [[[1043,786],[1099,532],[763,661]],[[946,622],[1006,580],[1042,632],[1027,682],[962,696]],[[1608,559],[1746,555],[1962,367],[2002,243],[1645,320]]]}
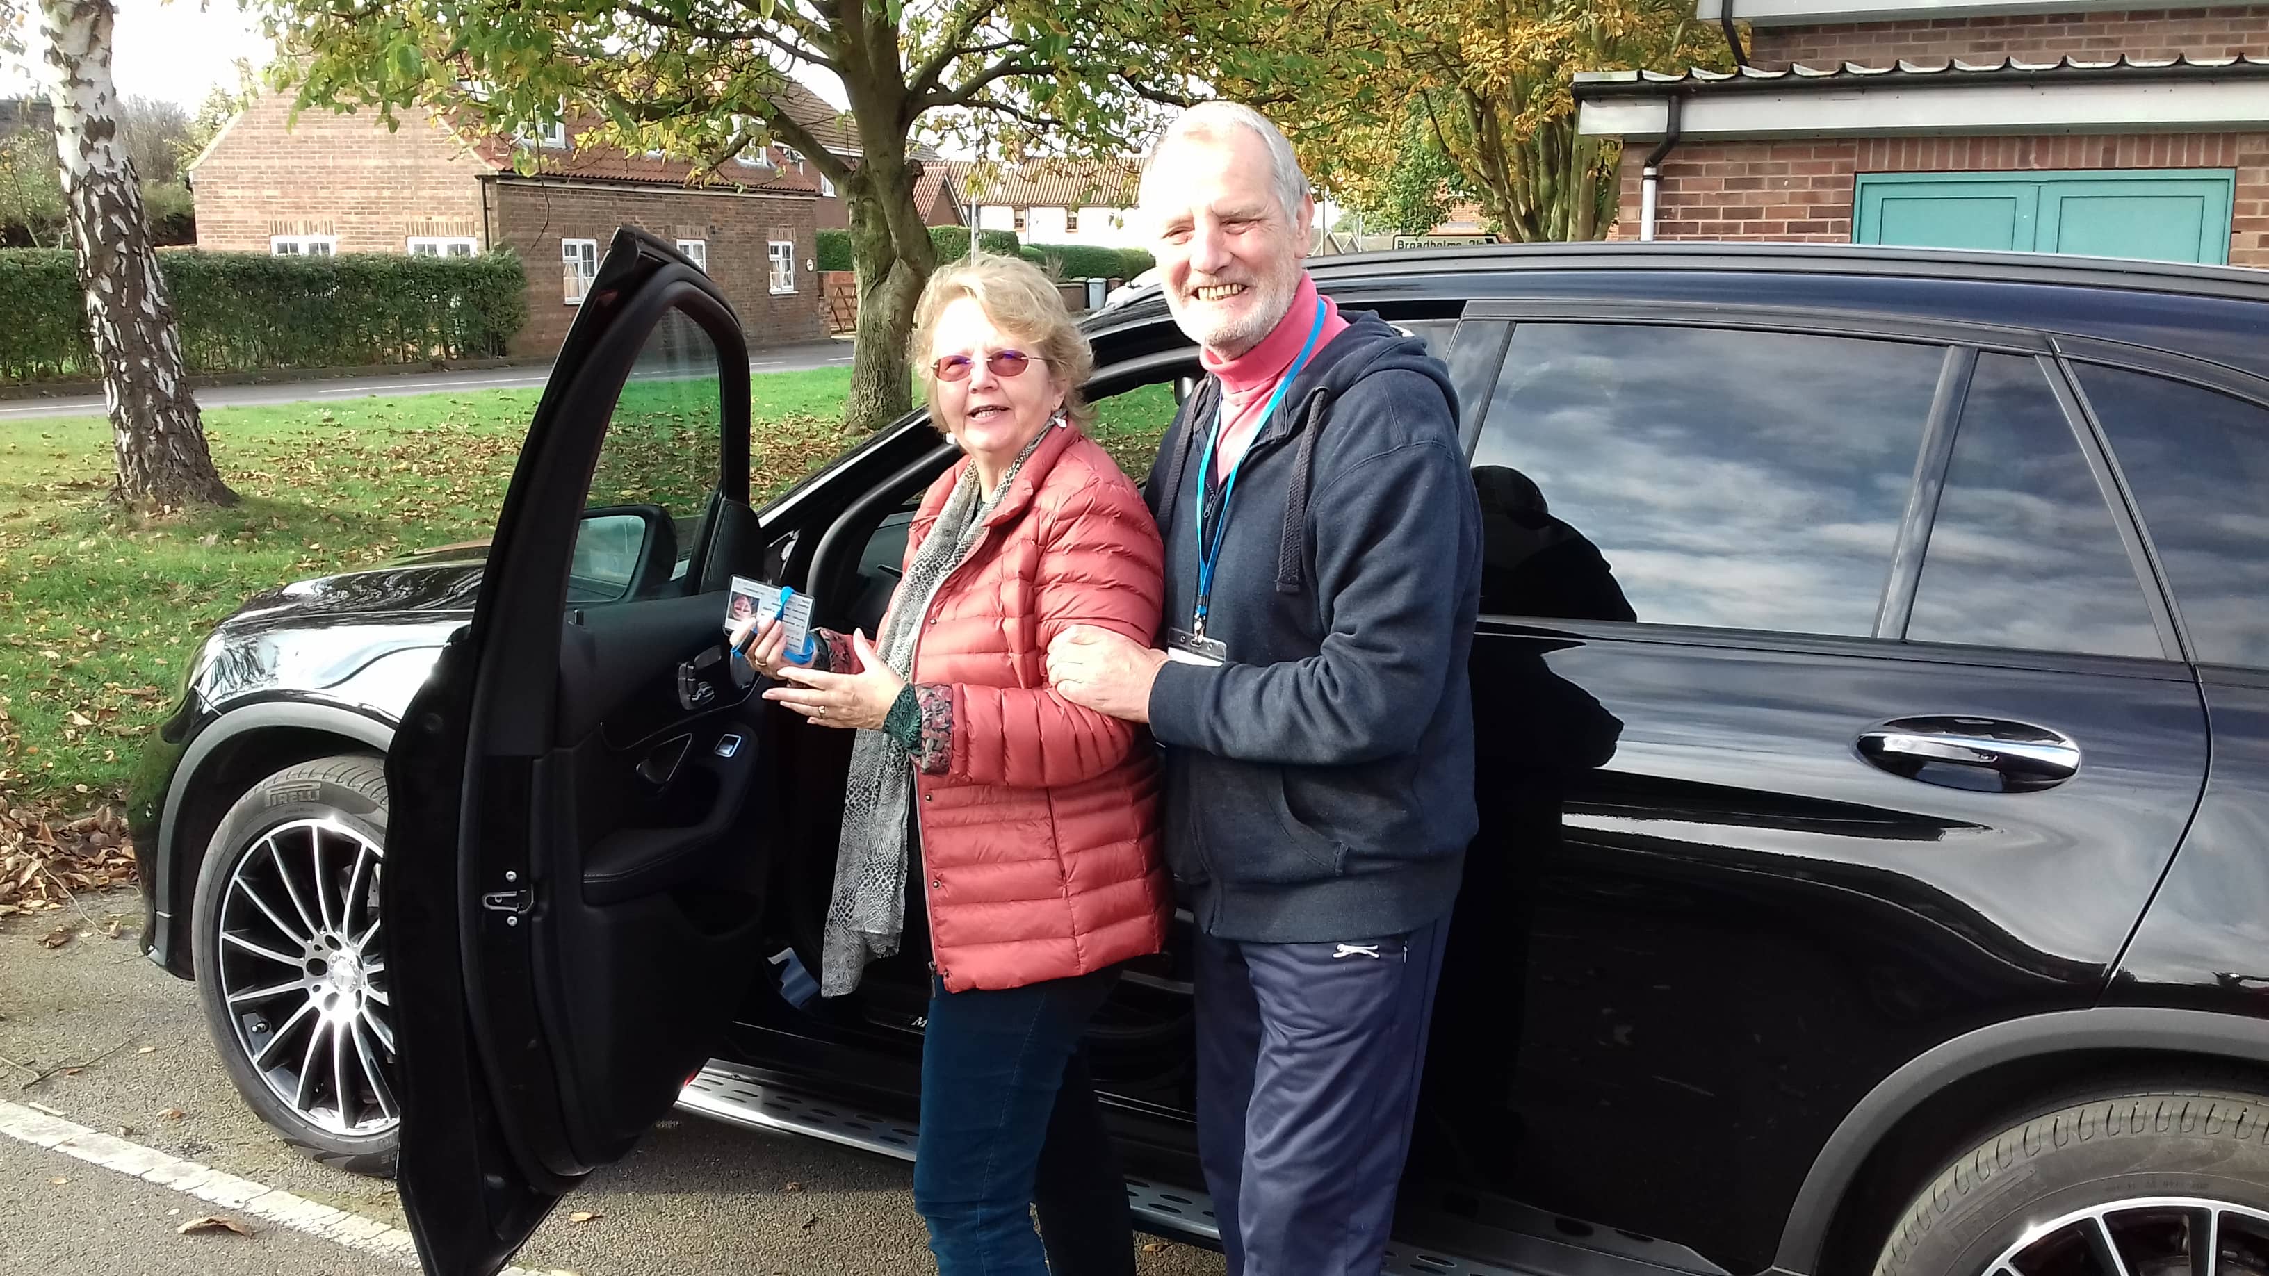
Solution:
{"label": "open front door of the black car, with its window", "polygon": [[617,232],[472,624],[386,758],[399,1185],[431,1274],[497,1271],[622,1158],[762,965],[762,699],[724,652],[747,484],[740,322]]}

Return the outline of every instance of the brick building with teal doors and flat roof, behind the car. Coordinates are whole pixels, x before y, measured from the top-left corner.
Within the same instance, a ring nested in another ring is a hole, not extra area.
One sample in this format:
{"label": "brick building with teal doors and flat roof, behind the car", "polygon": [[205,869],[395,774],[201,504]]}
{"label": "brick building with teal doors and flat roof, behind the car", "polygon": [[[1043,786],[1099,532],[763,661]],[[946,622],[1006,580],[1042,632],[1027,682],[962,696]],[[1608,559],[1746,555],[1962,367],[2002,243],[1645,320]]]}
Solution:
{"label": "brick building with teal doors and flat roof, behind the car", "polygon": [[1577,77],[1579,132],[1625,141],[1613,238],[2269,266],[2269,5],[1736,0],[1734,16],[1736,73]]}

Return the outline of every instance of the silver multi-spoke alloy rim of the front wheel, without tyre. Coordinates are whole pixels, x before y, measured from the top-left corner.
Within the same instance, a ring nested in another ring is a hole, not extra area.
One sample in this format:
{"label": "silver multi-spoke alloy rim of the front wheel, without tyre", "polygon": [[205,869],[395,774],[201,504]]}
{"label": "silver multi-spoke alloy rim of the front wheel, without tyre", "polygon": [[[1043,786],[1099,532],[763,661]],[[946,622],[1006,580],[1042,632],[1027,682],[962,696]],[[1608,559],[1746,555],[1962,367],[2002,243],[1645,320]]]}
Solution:
{"label": "silver multi-spoke alloy rim of the front wheel, without tyre", "polygon": [[402,1124],[379,942],[383,847],[336,820],[268,829],[220,899],[220,990],[252,1072],[306,1124]]}

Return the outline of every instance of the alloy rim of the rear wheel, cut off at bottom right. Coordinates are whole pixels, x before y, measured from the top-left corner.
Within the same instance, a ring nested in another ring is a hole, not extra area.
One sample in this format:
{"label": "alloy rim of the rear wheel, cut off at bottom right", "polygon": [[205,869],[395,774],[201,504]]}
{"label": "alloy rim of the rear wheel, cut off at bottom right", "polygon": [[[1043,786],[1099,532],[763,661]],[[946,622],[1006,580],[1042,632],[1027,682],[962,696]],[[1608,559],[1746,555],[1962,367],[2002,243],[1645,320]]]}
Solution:
{"label": "alloy rim of the rear wheel, cut off at bottom right", "polygon": [[1985,1276],[2269,1276],[2269,1212],[2137,1197],[2033,1226]]}

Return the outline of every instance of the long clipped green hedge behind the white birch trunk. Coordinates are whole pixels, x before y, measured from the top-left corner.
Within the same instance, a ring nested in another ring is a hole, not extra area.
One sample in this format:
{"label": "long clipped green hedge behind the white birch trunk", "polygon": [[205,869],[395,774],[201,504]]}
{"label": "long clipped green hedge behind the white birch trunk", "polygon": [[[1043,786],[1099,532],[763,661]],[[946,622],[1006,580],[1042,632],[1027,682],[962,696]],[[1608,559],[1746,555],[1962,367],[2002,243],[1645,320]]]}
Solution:
{"label": "long clipped green hedge behind the white birch trunk", "polygon": [[[474,259],[163,252],[188,372],[490,359],[529,318],[511,252]],[[93,377],[68,250],[0,250],[0,379]]]}

